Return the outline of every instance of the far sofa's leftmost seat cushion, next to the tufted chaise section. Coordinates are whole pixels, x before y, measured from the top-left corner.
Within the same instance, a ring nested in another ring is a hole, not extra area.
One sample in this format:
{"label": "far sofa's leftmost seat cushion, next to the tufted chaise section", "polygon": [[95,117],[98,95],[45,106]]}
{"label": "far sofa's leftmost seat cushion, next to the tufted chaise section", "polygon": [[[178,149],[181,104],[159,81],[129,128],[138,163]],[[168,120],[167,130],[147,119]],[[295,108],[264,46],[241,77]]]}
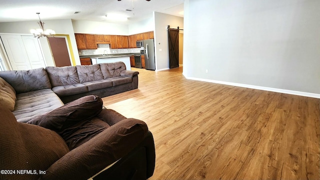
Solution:
{"label": "far sofa's leftmost seat cushion, next to the tufted chaise section", "polygon": [[88,87],[86,85],[76,83],[76,84],[70,84],[70,85],[55,86],[55,87],[52,87],[52,90],[58,96],[63,97],[63,96],[87,92]]}

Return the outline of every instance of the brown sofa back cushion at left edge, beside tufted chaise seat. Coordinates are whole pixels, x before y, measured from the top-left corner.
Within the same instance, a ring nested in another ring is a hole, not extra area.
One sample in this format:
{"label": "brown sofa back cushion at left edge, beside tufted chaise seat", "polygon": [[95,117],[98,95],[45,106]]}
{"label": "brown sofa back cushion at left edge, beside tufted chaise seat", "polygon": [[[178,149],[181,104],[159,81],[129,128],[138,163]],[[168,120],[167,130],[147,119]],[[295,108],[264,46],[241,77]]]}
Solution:
{"label": "brown sofa back cushion at left edge, beside tufted chaise seat", "polygon": [[0,77],[0,101],[2,104],[4,104],[4,106],[13,111],[15,100],[16,96],[14,88]]}

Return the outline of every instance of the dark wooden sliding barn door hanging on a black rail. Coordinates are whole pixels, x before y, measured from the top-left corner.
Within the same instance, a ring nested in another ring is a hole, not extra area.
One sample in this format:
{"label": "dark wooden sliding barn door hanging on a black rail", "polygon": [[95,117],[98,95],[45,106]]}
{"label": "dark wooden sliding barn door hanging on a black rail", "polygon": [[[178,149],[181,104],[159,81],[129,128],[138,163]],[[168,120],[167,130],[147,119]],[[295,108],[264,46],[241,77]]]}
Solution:
{"label": "dark wooden sliding barn door hanging on a black rail", "polygon": [[179,66],[179,30],[168,28],[169,67]]}

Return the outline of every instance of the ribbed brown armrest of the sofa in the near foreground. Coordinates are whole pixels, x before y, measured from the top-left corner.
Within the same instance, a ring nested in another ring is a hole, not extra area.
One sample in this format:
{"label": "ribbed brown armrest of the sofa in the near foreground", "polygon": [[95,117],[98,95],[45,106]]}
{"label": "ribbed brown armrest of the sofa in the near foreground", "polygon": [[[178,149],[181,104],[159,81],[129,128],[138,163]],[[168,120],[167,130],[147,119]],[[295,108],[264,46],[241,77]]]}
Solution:
{"label": "ribbed brown armrest of the sofa in the near foreground", "polygon": [[65,154],[40,179],[87,179],[129,153],[147,131],[145,122],[123,119]]}

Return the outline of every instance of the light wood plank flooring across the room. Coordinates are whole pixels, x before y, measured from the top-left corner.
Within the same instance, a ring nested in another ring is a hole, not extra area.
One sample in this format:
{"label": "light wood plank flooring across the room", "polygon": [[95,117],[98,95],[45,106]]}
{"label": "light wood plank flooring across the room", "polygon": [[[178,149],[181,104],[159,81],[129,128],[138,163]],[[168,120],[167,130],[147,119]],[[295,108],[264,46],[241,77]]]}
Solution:
{"label": "light wood plank flooring across the room", "polygon": [[138,89],[102,99],[153,133],[149,179],[320,179],[320,99],[132,70]]}

